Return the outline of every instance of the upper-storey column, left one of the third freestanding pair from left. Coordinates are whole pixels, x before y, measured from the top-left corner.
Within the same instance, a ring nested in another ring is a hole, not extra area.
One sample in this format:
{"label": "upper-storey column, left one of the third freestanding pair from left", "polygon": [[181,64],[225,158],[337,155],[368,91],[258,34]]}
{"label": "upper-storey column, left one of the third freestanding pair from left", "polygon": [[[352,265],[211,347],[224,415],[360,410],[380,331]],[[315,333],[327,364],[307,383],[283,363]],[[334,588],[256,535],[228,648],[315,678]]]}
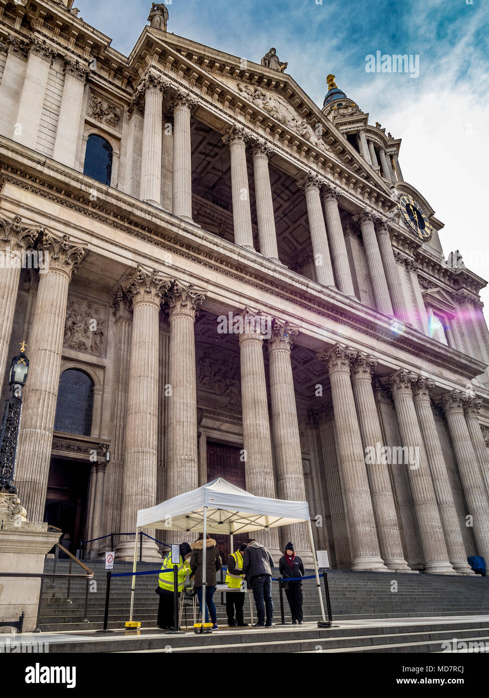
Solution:
{"label": "upper-storey column, left one of the third freestanding pair from left", "polygon": [[318,283],[322,283],[324,286],[334,286],[333,267],[331,266],[328,236],[326,235],[326,225],[324,224],[321,195],[319,193],[320,186],[320,181],[313,177],[308,177],[304,184],[310,239],[313,244],[313,255]]}

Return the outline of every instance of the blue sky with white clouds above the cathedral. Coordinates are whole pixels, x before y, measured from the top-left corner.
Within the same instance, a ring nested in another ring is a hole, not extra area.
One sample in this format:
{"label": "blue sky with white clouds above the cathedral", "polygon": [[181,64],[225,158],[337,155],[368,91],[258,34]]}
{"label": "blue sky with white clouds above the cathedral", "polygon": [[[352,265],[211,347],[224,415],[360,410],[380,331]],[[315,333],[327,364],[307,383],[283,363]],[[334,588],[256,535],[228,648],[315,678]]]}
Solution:
{"label": "blue sky with white clouds above the cathedral", "polygon": [[[128,54],[151,2],[76,0],[85,22]],[[445,256],[489,278],[487,0],[172,0],[168,31],[259,63],[271,46],[322,106],[328,73],[395,138],[406,181],[445,228]],[[416,54],[419,77],[367,73],[366,56]],[[489,290],[482,292],[489,307]],[[487,311],[487,309],[486,309]]]}

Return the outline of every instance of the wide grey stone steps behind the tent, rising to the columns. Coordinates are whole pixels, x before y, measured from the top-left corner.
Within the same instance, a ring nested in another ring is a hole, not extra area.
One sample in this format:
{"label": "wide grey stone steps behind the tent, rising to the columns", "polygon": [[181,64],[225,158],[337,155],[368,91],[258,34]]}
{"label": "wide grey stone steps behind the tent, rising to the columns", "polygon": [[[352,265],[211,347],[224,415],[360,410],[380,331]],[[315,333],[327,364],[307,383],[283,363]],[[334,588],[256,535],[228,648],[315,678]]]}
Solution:
{"label": "wide grey stone steps behind the tent, rising to the columns", "polygon": [[[72,579],[70,603],[66,602],[67,581],[65,579],[57,579],[54,585],[50,586],[50,580],[46,579],[40,614],[40,629],[43,632],[100,630],[103,627],[106,572],[103,562],[90,560],[87,564],[95,572],[94,580],[96,581],[96,588],[89,593],[87,613],[89,623],[84,622],[85,581]],[[53,565],[54,560],[46,560],[45,572],[52,572]],[[154,563],[137,564],[138,572],[155,569],[157,567]],[[131,563],[116,563],[114,572],[130,572],[131,570]],[[57,572],[68,572],[68,560],[58,561]],[[75,572],[75,566],[73,567],[73,572]],[[311,572],[306,572],[306,574],[311,574]],[[489,578],[480,577],[479,575],[474,577],[444,577],[442,575],[424,574],[333,571],[329,572],[328,580],[333,620],[336,621],[360,621],[366,618],[379,619],[380,621],[382,618],[489,615]],[[128,620],[130,581],[131,577],[112,578],[109,612],[110,629],[123,629],[125,621]],[[393,582],[397,583],[397,591],[393,591],[395,588]],[[136,578],[133,618],[141,621],[142,628],[154,628],[156,626],[158,609],[158,595],[154,593],[156,586],[158,586],[157,574],[141,575]],[[95,587],[95,585],[91,584],[91,587]],[[272,583],[272,590],[275,608],[274,621],[278,622],[280,621],[280,606],[277,582]],[[325,598],[324,585],[322,585],[322,593],[323,598]],[[309,622],[320,620],[321,615],[315,579],[304,581],[303,596],[304,620]],[[218,611],[218,623],[223,626],[227,625],[225,607],[220,605],[220,593],[216,593],[214,600]],[[187,618],[189,625],[191,625],[193,623],[191,601],[188,600],[187,603]],[[326,607],[325,600],[324,605]],[[290,621],[290,614],[285,595],[284,606],[285,621],[287,622]],[[245,613],[248,613],[248,608],[247,600]],[[421,627],[424,628],[425,626],[420,625]],[[483,630],[489,635],[489,625],[488,630],[486,630],[486,626],[483,626]],[[303,629],[298,628],[298,632],[302,631]],[[405,628],[403,628],[404,631]],[[273,632],[275,632],[275,628]],[[293,632],[293,628],[289,626],[287,641],[290,641],[290,632]],[[424,632],[428,631],[425,630]],[[226,631],[226,636],[228,635],[229,631]],[[174,636],[175,639],[176,637],[178,636]],[[199,639],[198,636],[195,637]],[[305,640],[303,635],[299,637],[301,641]],[[415,641],[422,642],[423,640],[426,640],[426,636]],[[369,644],[371,645],[371,643]],[[329,648],[334,649],[331,645]]]}

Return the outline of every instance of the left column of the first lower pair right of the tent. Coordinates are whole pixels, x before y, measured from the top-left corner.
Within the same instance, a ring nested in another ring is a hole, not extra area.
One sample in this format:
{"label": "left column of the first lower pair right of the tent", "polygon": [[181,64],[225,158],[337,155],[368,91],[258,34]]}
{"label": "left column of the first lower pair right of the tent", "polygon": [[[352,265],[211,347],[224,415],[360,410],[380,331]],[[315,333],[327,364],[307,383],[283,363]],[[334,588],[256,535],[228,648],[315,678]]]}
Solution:
{"label": "left column of the first lower pair right of the tent", "polygon": [[379,553],[365,454],[350,381],[349,369],[354,357],[354,351],[339,344],[324,354],[317,355],[319,362],[328,367],[331,382],[339,461],[343,472],[349,521],[352,570],[387,572]]}

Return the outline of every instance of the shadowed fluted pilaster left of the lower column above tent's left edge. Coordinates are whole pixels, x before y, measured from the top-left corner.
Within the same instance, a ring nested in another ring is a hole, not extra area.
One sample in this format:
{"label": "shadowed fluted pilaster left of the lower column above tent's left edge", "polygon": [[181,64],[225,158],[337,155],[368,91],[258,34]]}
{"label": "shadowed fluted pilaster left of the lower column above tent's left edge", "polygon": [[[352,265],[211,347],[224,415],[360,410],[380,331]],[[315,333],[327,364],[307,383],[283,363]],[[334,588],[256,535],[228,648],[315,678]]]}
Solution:
{"label": "shadowed fluted pilaster left of the lower column above tent's left edge", "polygon": [[[121,288],[117,292],[112,307],[115,315],[114,397],[110,419],[113,438],[110,444],[110,463],[108,463],[105,472],[103,535],[128,533],[121,528],[121,501],[133,317],[130,311],[130,301]],[[110,539],[103,540],[100,548],[108,550],[109,545]]]}

